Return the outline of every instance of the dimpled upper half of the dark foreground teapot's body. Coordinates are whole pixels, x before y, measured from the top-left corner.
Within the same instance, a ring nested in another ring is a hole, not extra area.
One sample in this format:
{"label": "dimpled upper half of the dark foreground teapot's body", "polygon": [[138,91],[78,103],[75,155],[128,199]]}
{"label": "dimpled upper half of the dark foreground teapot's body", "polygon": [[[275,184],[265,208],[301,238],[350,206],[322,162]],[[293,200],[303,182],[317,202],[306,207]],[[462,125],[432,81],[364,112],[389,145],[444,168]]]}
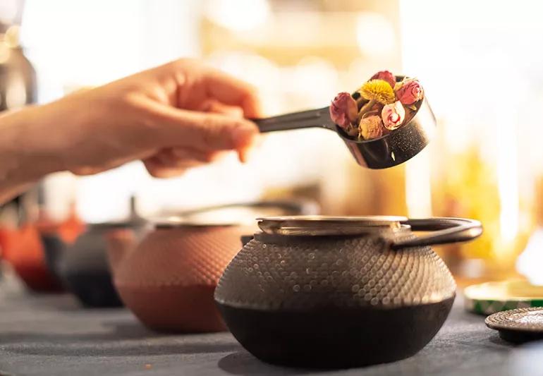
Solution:
{"label": "dimpled upper half of the dark foreground teapot's body", "polygon": [[429,247],[392,250],[391,237],[260,234],[236,255],[215,298],[238,308],[312,310],[323,306],[397,308],[452,298],[456,284]]}

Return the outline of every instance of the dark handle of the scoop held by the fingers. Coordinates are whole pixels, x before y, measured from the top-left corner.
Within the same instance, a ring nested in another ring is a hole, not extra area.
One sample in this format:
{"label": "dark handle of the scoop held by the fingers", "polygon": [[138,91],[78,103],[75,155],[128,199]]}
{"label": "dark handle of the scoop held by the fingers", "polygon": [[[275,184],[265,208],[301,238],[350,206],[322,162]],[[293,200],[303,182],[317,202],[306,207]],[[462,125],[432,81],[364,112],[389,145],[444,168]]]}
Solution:
{"label": "dark handle of the scoop held by the fingers", "polygon": [[262,133],[313,127],[327,128],[334,131],[336,126],[330,119],[329,107],[250,120],[257,124]]}

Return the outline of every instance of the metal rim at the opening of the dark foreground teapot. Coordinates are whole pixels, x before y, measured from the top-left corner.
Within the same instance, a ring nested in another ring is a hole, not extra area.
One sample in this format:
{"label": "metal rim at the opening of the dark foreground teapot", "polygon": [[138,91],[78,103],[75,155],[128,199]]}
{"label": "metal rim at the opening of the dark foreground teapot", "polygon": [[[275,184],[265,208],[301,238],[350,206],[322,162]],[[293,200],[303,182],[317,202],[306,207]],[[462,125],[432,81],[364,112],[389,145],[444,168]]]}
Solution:
{"label": "metal rim at the opening of the dark foreground teapot", "polygon": [[257,218],[258,226],[271,235],[324,236],[358,235],[382,229],[401,229],[406,217],[366,216],[334,217],[324,215],[302,215],[291,217]]}

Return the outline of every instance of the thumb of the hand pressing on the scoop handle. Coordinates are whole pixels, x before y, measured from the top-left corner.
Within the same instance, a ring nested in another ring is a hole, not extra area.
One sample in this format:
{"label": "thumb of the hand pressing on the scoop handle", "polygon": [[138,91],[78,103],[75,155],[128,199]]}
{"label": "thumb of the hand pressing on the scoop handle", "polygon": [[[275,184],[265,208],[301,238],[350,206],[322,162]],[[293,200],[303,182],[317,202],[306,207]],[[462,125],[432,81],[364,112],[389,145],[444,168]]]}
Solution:
{"label": "thumb of the hand pressing on the scoop handle", "polygon": [[205,151],[244,150],[259,133],[255,123],[238,116],[188,111],[173,107],[161,109],[157,126],[163,145],[192,147]]}

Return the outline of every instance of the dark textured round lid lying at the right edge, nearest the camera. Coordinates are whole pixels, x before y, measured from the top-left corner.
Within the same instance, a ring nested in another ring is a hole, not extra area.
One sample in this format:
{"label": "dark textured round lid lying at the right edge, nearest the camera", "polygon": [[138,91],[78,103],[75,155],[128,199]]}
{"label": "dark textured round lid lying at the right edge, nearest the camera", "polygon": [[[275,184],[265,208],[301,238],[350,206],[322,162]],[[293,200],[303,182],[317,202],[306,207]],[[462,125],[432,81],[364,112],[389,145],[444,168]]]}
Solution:
{"label": "dark textured round lid lying at the right edge, nearest the camera", "polygon": [[502,339],[522,343],[543,339],[543,308],[518,308],[494,313],[484,320]]}

